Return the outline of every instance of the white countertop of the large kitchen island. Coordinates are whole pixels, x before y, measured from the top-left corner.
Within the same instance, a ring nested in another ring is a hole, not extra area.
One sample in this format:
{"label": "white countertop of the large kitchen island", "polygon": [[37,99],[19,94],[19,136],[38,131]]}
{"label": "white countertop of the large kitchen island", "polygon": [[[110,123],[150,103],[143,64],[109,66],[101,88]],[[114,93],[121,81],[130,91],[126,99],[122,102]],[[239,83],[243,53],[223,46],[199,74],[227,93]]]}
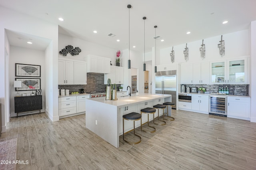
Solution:
{"label": "white countertop of the large kitchen island", "polygon": [[98,101],[101,103],[106,103],[109,105],[114,105],[117,107],[122,107],[122,106],[127,106],[127,105],[134,105],[136,103],[152,101],[154,99],[162,99],[165,97],[171,97],[171,96],[172,95],[144,93],[144,94],[140,94],[140,95],[118,97],[118,100],[116,100],[116,101],[106,101],[105,97],[91,98],[91,99],[86,99],[86,100],[93,100],[93,101]]}

